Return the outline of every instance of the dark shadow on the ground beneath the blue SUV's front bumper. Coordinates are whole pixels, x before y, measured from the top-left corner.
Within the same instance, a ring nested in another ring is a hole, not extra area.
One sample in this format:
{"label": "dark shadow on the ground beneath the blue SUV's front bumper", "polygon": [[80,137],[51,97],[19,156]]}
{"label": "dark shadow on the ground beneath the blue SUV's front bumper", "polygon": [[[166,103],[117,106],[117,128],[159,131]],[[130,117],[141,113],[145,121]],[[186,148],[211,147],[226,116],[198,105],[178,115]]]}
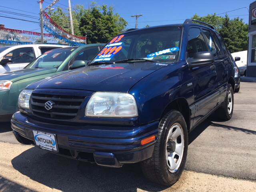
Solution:
{"label": "dark shadow on the ground beneath the blue SUV's front bumper", "polygon": [[61,191],[160,191],[168,187],[144,178],[139,164],[108,168],[30,148],[12,159],[12,166],[30,179]]}

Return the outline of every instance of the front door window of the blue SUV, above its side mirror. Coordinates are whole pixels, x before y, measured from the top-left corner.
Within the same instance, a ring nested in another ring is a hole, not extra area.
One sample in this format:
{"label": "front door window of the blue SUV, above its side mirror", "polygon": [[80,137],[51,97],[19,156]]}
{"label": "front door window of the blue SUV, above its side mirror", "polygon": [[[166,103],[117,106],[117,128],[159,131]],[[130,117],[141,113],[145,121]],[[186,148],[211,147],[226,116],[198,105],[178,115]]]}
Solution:
{"label": "front door window of the blue SUV, above its side mirror", "polygon": [[192,58],[195,53],[206,51],[208,51],[208,48],[206,47],[201,30],[199,28],[190,28],[187,46],[188,57]]}

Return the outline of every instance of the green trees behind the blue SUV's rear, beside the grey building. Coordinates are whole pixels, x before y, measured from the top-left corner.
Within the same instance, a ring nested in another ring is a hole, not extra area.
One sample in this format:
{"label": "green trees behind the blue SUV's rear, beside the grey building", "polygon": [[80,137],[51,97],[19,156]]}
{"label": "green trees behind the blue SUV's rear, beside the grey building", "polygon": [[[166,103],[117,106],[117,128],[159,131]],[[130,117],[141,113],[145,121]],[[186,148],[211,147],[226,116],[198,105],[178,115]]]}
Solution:
{"label": "green trees behind the blue SUV's rear, beside the grey building", "polygon": [[200,20],[211,24],[220,33],[228,50],[238,52],[247,50],[248,47],[248,24],[240,18],[230,20],[228,15],[225,17],[208,14],[207,16],[198,16],[195,14],[192,19]]}

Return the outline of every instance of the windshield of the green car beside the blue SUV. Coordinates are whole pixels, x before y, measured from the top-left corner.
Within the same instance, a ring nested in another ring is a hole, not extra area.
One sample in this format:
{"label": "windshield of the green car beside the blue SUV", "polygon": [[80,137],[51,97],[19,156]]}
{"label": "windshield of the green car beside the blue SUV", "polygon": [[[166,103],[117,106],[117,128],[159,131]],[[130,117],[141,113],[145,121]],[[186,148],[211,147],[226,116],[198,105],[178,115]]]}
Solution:
{"label": "windshield of the green car beside the blue SUV", "polygon": [[52,49],[36,58],[25,68],[58,68],[62,62],[64,62],[64,60],[68,58],[68,56],[70,56],[70,54],[77,48],[78,47],[66,47]]}

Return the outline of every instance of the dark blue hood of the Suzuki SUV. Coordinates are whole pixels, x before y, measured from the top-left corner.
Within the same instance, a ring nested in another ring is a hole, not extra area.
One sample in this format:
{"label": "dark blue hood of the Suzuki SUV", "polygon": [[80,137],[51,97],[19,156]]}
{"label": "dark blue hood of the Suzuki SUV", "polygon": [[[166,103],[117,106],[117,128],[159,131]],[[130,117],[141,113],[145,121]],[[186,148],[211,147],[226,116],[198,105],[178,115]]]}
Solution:
{"label": "dark blue hood of the Suzuki SUV", "polygon": [[37,82],[28,88],[127,92],[142,78],[166,65],[153,62],[129,62],[86,66]]}

